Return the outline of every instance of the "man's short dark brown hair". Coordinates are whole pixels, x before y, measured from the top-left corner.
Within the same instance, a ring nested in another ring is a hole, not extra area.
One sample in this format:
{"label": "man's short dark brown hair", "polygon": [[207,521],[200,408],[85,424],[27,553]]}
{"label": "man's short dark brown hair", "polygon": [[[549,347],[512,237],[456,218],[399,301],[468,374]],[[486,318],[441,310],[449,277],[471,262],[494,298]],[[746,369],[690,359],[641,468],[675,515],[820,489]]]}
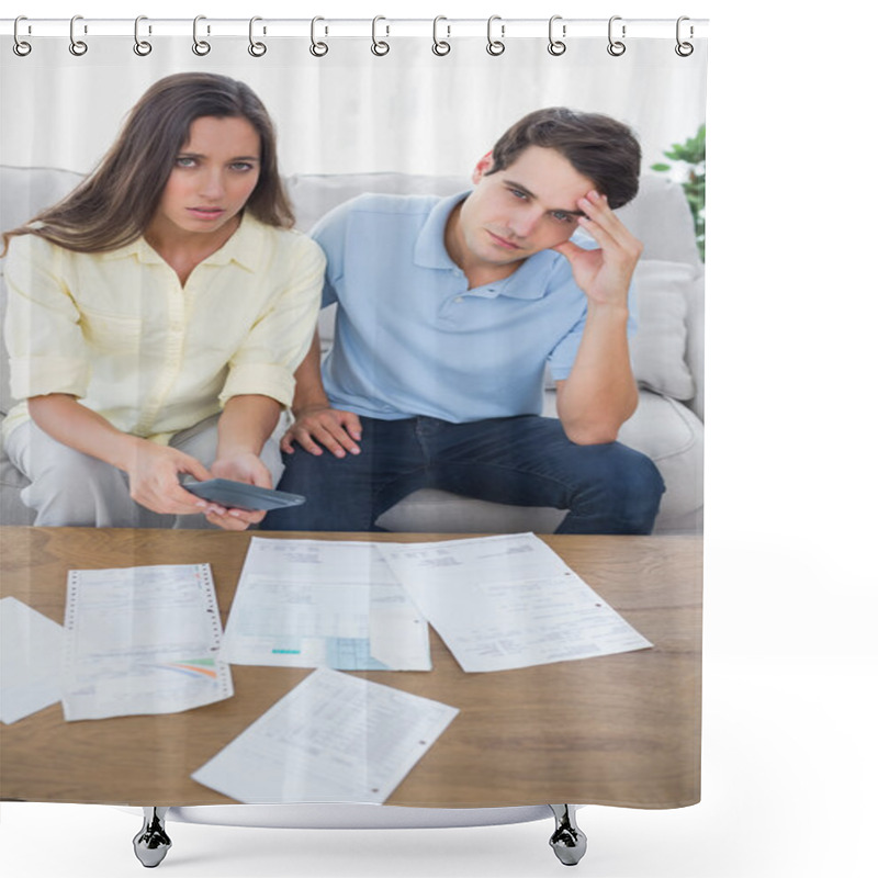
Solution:
{"label": "man's short dark brown hair", "polygon": [[508,168],[529,146],[556,149],[584,177],[595,181],[612,209],[638,193],[641,151],[628,125],[566,106],[548,106],[518,120],[494,145],[487,173]]}

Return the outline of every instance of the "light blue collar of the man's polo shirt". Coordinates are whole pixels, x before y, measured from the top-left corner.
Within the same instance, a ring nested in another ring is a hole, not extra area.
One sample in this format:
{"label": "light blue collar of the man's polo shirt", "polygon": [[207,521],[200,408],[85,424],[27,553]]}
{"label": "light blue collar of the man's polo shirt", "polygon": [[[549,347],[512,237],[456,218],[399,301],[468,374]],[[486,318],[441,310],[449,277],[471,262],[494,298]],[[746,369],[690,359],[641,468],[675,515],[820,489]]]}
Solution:
{"label": "light blue collar of the man's polo shirt", "polygon": [[[415,264],[421,268],[458,269],[460,267],[446,249],[446,226],[451,212],[472,190],[458,192],[441,199],[430,211],[415,243]],[[549,279],[558,264],[564,259],[554,250],[542,250],[528,257],[516,271],[500,281],[476,288],[479,294],[493,299],[497,295],[513,299],[542,299],[549,288]],[[476,291],[471,291],[475,293]]]}

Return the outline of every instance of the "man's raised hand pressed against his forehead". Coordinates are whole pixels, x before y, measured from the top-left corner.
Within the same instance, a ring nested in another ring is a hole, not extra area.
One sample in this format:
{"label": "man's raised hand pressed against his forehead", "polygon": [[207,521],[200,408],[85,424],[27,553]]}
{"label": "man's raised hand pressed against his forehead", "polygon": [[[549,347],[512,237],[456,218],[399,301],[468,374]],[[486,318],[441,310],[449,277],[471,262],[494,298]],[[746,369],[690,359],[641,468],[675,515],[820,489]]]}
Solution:
{"label": "man's raised hand pressed against his forehead", "polygon": [[579,225],[597,241],[598,249],[586,250],[570,240],[552,249],[567,258],[573,279],[589,305],[627,308],[628,288],[643,245],[610,210],[606,195],[592,191],[576,206],[585,214]]}

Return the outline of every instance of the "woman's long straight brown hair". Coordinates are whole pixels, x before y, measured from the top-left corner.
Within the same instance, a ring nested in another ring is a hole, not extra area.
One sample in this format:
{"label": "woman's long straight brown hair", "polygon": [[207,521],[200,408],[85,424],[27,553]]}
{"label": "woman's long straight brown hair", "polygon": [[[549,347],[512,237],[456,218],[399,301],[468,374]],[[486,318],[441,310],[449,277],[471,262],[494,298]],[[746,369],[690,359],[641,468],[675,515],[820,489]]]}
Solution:
{"label": "woman's long straight brown hair", "polygon": [[131,244],[149,225],[190,126],[202,116],[246,119],[256,128],[259,181],[247,210],[267,225],[292,227],[295,217],[278,172],[274,126],[252,89],[217,74],[175,74],[155,82],[132,108],[97,170],[31,223],[3,234],[3,250],[13,235],[38,235],[78,252]]}

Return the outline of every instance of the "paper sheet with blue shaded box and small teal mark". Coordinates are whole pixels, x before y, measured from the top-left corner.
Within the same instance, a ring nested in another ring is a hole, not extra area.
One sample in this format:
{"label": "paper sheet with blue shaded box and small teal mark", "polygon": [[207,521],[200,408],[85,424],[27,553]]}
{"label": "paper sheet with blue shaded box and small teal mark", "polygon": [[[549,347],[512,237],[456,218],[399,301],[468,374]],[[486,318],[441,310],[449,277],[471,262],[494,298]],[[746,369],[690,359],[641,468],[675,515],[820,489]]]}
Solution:
{"label": "paper sheet with blue shaded box and small teal mark", "polygon": [[255,537],[221,656],[232,664],[429,671],[429,628],[374,543]]}

